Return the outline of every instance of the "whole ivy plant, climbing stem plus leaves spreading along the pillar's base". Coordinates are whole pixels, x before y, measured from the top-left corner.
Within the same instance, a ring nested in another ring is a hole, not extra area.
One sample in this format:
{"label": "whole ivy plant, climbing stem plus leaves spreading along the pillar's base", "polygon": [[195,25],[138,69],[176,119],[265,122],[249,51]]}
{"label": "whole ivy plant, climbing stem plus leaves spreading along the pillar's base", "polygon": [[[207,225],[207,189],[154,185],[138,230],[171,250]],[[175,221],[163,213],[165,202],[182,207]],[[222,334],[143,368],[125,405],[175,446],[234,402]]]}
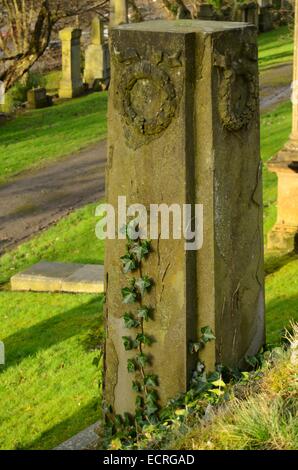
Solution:
{"label": "whole ivy plant, climbing stem plus leaves spreading along the pillar's base", "polygon": [[[132,390],[136,393],[135,415],[114,415],[112,408],[107,408],[103,442],[113,449],[122,448],[124,443],[128,447],[136,448],[136,442],[141,442],[144,438],[143,431],[146,431],[146,434],[149,429],[157,429],[160,426],[167,428],[168,424],[164,423],[174,423],[178,415],[182,417],[184,410],[181,407],[189,407],[189,403],[202,393],[210,391],[213,400],[219,399],[225,385],[221,381],[220,373],[207,374],[204,364],[198,360],[189,391],[170,400],[165,408],[160,408],[159,378],[151,372],[153,357],[148,353],[148,348],[154,342],[154,338],[148,333],[148,326],[154,319],[154,309],[148,303],[148,294],[154,281],[144,273],[152,247],[149,240],[143,240],[139,236],[136,238],[137,228],[134,221],[125,227],[126,251],[121,256],[122,271],[129,276],[127,285],[121,288],[122,302],[127,307],[122,320],[128,330],[127,334],[122,336],[122,342],[125,351],[130,353],[127,370],[133,375]],[[198,340],[189,344],[189,352],[199,354],[206,344],[214,339],[209,326],[201,328]]]}

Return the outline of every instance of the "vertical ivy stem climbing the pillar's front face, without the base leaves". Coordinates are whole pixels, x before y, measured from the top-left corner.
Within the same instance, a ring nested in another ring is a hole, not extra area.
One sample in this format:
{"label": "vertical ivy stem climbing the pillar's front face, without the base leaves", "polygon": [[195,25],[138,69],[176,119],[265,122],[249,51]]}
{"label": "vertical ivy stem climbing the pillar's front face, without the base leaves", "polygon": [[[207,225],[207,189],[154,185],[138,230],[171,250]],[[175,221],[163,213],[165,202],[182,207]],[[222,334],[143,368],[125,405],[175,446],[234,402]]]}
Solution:
{"label": "vertical ivy stem climbing the pillar's front face, without the base leaves", "polygon": [[[134,231],[135,233],[135,231]],[[126,311],[123,316],[125,328],[132,330],[131,335],[123,336],[126,351],[134,351],[133,357],[127,360],[127,370],[134,374],[132,389],[136,392],[135,422],[141,428],[145,423],[157,422],[158,412],[158,377],[147,371],[152,366],[152,357],[147,354],[147,347],[154,342],[147,333],[145,325],[153,320],[153,309],[146,303],[147,294],[153,286],[153,279],[143,273],[144,261],[151,252],[151,242],[140,237],[132,237],[130,224],[126,227],[126,253],[121,257],[124,274],[135,274],[128,286],[121,289],[125,305],[134,305],[135,313]]]}

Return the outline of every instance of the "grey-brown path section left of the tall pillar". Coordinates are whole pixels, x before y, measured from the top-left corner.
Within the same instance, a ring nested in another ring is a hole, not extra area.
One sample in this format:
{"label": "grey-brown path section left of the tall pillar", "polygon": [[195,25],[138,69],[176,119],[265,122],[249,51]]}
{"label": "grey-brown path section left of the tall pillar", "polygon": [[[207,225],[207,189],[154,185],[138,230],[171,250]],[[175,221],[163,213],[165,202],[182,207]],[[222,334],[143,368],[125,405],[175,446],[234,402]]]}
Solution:
{"label": "grey-brown path section left of the tall pillar", "polygon": [[0,186],[0,254],[104,196],[106,141]]}

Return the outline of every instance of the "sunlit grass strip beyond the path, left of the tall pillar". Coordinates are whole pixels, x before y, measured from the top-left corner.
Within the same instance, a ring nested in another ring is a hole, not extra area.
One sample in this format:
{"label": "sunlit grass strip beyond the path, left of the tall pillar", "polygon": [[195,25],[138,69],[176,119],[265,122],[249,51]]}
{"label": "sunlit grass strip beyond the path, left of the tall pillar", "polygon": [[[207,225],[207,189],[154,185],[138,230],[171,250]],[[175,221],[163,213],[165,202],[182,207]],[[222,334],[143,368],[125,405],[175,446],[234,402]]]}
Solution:
{"label": "sunlit grass strip beyond the path, left of the tall pillar", "polygon": [[1,125],[0,184],[105,138],[107,93],[27,111]]}

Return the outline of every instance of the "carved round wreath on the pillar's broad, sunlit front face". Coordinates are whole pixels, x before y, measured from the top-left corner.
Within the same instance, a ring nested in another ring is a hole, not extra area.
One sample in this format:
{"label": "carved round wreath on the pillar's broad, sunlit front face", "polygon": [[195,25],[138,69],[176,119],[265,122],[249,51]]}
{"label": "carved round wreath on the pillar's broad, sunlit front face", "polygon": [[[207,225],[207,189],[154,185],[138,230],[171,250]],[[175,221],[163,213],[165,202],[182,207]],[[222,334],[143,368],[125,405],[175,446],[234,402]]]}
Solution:
{"label": "carved round wreath on the pillar's broad, sunlit front face", "polygon": [[178,96],[168,69],[181,67],[180,52],[170,56],[164,52],[140,57],[135,49],[120,53],[114,59],[124,63],[117,87],[120,113],[125,123],[128,144],[137,148],[157,138],[175,116]]}

